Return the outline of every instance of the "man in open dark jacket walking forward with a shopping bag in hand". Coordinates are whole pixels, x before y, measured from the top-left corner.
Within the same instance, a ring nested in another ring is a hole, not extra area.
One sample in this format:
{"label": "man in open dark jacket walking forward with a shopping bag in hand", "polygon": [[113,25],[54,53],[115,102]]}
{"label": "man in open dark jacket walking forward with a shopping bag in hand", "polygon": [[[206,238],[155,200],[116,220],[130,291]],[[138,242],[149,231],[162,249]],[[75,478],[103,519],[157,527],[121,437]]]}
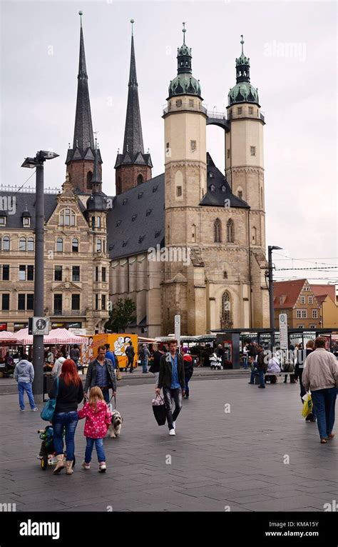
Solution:
{"label": "man in open dark jacket walking forward with a shopping bag in hand", "polygon": [[[176,418],[182,408],[182,398],[185,395],[185,375],[183,357],[177,353],[178,343],[172,340],[169,343],[169,353],[160,358],[160,376],[156,393],[160,394],[163,388],[169,435],[175,435]],[[172,413],[172,399],[175,401],[175,411]]]}

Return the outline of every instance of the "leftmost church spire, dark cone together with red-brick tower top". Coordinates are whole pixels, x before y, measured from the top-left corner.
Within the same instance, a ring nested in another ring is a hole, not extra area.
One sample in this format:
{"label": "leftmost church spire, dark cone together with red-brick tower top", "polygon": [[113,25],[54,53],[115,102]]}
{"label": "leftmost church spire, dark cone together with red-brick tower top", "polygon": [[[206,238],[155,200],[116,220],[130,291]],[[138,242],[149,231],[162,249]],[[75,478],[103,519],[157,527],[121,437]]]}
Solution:
{"label": "leftmost church spire, dark cone together with red-brick tower top", "polygon": [[[94,137],[91,121],[91,102],[88,90],[88,74],[86,66],[86,53],[83,39],[82,15],[80,23],[80,53],[78,58],[78,91],[76,96],[76,114],[73,136],[73,148],[67,151],[67,173],[75,190],[90,192],[91,179],[94,167]],[[101,154],[98,154],[98,170],[101,172]]]}

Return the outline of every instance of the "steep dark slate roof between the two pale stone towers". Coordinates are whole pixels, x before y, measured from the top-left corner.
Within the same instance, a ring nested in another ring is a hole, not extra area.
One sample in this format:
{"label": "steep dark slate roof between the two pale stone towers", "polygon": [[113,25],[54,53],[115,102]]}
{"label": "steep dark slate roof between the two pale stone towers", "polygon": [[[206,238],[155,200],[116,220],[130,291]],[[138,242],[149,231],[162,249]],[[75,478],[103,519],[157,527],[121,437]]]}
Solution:
{"label": "steep dark slate roof between the two pale stone towers", "polygon": [[[213,188],[215,188],[213,190]],[[220,172],[219,169],[215,166],[212,158],[207,153],[207,192],[203,196],[200,205],[205,206],[218,206],[224,207],[225,200],[227,202],[227,207],[237,207],[243,209],[250,209],[250,206],[243,199],[238,198],[235,194],[232,194],[229,184],[225,179],[225,176]]]}

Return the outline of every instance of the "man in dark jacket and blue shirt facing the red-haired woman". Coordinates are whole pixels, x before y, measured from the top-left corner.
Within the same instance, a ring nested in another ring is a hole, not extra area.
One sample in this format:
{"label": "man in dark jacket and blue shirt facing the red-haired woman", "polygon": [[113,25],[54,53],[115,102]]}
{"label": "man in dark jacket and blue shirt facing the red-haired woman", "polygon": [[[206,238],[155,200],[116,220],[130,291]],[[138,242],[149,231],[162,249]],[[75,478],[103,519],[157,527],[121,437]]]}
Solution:
{"label": "man in dark jacket and blue shirt facing the red-haired woman", "polygon": [[113,395],[116,395],[116,375],[113,363],[106,358],[105,346],[98,348],[97,358],[89,363],[84,392],[94,386],[101,388],[106,403],[109,403],[109,388],[113,388]]}

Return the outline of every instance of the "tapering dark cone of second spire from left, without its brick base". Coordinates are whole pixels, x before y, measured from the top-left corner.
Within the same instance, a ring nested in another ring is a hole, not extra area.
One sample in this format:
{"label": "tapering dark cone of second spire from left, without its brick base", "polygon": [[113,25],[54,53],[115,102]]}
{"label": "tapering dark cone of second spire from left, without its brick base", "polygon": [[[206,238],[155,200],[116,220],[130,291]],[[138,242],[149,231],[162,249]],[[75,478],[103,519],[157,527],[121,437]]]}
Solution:
{"label": "tapering dark cone of second spire from left, without its brick base", "polygon": [[[130,23],[133,24],[133,22],[133,19],[131,19]],[[144,153],[142,125],[140,120],[140,104],[138,102],[138,79],[136,76],[133,27],[131,34],[126,128],[124,131],[123,141],[123,154],[126,154],[126,152],[130,154],[132,161],[139,152],[141,152],[141,154]]]}

